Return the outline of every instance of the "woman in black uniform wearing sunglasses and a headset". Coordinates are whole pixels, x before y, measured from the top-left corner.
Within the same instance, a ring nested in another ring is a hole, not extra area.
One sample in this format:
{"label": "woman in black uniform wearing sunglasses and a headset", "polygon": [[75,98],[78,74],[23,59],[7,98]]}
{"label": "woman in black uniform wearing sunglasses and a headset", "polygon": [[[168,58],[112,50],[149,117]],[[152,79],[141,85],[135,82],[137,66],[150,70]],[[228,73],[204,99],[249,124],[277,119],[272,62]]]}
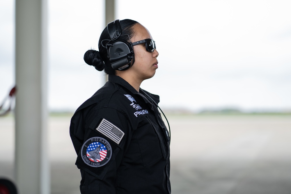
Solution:
{"label": "woman in black uniform wearing sunglasses and a headset", "polygon": [[134,20],[115,20],[99,51],[84,60],[109,81],[74,113],[70,136],[81,171],[81,193],[171,193],[170,137],[159,96],[140,88],[158,68],[155,41]]}

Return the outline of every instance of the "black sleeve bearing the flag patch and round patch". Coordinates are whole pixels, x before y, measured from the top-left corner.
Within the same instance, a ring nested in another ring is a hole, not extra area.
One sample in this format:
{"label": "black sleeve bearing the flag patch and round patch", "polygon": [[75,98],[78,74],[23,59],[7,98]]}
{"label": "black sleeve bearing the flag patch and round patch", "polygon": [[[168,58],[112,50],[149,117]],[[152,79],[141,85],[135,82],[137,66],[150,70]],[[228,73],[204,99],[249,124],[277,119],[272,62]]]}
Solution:
{"label": "black sleeve bearing the flag patch and round patch", "polygon": [[84,132],[76,161],[81,194],[116,193],[117,168],[132,137],[129,119],[122,111],[101,108],[85,118]]}

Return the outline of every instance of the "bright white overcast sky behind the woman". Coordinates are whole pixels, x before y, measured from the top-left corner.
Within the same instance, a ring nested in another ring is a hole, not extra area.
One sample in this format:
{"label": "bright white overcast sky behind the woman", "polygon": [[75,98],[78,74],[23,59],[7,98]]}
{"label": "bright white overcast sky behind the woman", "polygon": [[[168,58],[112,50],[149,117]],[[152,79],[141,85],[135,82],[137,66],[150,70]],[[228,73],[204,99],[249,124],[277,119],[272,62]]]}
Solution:
{"label": "bright white overcast sky behind the woman", "polygon": [[[86,65],[105,27],[104,1],[48,0],[48,104],[74,111],[103,84]],[[162,108],[291,110],[291,1],[134,1],[116,19],[143,24],[159,68],[141,88]],[[0,2],[0,102],[15,84],[14,1]]]}

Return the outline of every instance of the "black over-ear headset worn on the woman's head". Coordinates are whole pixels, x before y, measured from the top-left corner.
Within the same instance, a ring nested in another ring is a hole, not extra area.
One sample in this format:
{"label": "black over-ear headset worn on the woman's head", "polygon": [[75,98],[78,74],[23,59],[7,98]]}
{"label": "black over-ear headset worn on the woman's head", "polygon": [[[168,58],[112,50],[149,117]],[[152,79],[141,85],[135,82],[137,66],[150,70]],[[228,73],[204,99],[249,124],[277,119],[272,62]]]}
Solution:
{"label": "black over-ear headset worn on the woman's head", "polygon": [[127,70],[134,63],[133,47],[131,42],[120,39],[120,36],[128,36],[129,38],[129,35],[121,35],[119,19],[108,23],[107,30],[111,40],[106,44],[106,49],[111,67],[114,70]]}

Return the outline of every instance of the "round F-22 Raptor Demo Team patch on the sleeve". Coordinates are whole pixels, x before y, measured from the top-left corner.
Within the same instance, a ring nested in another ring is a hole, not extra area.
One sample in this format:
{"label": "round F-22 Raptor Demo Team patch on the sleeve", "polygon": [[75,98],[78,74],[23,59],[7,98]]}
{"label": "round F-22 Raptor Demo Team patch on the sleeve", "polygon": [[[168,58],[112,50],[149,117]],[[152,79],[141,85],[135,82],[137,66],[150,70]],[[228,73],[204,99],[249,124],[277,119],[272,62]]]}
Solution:
{"label": "round F-22 Raptor Demo Team patch on the sleeve", "polygon": [[111,145],[101,137],[88,139],[81,148],[83,161],[92,167],[100,167],[109,162],[112,154]]}

